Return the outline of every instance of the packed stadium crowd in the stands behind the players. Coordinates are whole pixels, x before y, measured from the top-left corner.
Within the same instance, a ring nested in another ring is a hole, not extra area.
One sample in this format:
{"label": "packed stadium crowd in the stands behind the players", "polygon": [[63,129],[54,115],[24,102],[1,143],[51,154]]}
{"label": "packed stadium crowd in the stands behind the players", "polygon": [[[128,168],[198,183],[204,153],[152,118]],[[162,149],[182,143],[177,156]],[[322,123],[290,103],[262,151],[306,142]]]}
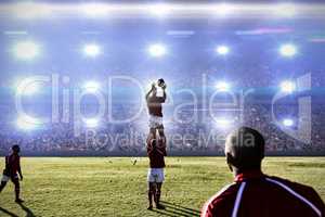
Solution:
{"label": "packed stadium crowd in the stands behind the players", "polygon": [[[117,106],[119,115],[129,115],[134,105]],[[122,108],[121,108],[122,107]],[[168,113],[172,107],[167,107]],[[278,111],[292,115],[297,108],[287,106]],[[292,112],[294,111],[294,112]],[[218,123],[209,114],[198,113],[193,119],[194,108],[180,110],[177,116],[166,115],[165,128],[170,153],[205,154],[223,152],[225,135],[234,127],[245,125],[260,130],[266,140],[266,151],[275,154],[286,153],[324,153],[325,131],[324,107],[313,106],[311,117],[310,140],[303,140],[300,135],[290,135],[287,130],[298,130],[298,126],[280,126],[272,119],[271,105],[263,103],[247,104],[240,114],[233,114],[233,122]],[[282,114],[276,114],[280,116]],[[204,117],[205,116],[205,117]],[[81,126],[76,128],[75,123],[56,123],[35,130],[22,130],[12,122],[1,117],[0,152],[5,153],[14,143],[18,143],[26,153],[96,153],[109,155],[136,155],[144,153],[147,135],[147,115],[144,111],[135,120],[123,124],[102,122],[96,128]],[[227,125],[229,124],[229,125]]]}

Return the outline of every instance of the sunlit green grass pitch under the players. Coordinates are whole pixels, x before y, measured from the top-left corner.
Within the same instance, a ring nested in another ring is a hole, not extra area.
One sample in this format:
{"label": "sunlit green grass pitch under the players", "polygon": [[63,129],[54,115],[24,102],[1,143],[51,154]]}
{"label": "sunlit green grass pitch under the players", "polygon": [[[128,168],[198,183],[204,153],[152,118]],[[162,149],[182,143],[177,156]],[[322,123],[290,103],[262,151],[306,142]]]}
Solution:
{"label": "sunlit green grass pitch under the players", "polygon": [[[1,161],[3,167],[4,161]],[[198,216],[232,182],[224,157],[168,157],[161,200],[166,210],[146,210],[147,159],[130,157],[24,157],[23,205],[13,184],[0,194],[0,216]],[[312,186],[325,201],[325,157],[266,157],[265,174]]]}

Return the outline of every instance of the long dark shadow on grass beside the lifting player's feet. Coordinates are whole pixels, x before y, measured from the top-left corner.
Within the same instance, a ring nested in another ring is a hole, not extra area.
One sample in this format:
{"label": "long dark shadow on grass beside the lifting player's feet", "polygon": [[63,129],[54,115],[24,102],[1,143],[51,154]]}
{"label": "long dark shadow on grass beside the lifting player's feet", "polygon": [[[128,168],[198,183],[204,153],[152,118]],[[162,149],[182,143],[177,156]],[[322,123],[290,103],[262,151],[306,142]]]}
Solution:
{"label": "long dark shadow on grass beside the lifting player's feet", "polygon": [[176,216],[181,216],[181,217],[198,217],[200,212],[188,208],[185,206],[181,206],[178,204],[169,203],[161,201],[161,204],[166,207],[166,209],[154,209],[154,212],[165,215],[165,216],[170,216],[170,217],[176,217]]}

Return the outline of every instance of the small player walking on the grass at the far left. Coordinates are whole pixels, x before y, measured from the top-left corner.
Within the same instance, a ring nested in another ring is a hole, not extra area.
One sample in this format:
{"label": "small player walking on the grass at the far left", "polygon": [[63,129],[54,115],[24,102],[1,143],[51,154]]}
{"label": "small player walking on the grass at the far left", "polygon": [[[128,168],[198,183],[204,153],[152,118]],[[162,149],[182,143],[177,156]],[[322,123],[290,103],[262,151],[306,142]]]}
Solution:
{"label": "small player walking on the grass at the far left", "polygon": [[15,144],[12,146],[12,154],[5,156],[5,168],[3,170],[3,176],[1,179],[0,192],[6,186],[6,182],[11,180],[15,186],[15,196],[16,203],[23,203],[24,201],[20,197],[21,187],[20,187],[20,179],[23,181],[23,173],[21,169],[21,156],[20,156],[21,148],[20,145]]}

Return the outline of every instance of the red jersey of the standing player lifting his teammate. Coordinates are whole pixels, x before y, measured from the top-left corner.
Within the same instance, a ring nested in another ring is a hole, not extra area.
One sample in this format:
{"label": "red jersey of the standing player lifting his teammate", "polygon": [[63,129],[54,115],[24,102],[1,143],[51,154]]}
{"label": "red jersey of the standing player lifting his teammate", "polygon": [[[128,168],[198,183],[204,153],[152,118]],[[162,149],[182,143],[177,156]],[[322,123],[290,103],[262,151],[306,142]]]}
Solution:
{"label": "red jersey of the standing player lifting his teammate", "polygon": [[167,155],[166,148],[156,145],[153,148],[152,145],[147,145],[147,156],[150,157],[151,168],[164,168],[165,165],[165,156]]}

